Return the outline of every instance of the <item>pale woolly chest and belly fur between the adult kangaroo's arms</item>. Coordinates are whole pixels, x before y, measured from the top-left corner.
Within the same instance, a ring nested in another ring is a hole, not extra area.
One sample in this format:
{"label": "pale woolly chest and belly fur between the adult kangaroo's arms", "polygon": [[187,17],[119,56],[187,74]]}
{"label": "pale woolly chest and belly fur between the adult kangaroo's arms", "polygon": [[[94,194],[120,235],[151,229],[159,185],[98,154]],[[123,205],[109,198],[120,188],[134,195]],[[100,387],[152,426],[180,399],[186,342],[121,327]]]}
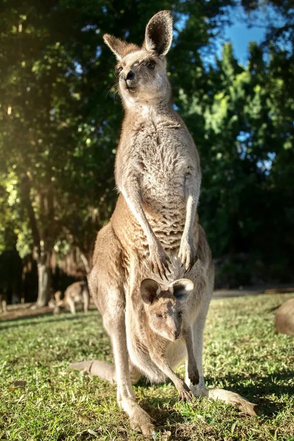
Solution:
{"label": "pale woolly chest and belly fur between the adult kangaroo's arms", "polygon": [[147,124],[134,146],[147,219],[165,248],[179,246],[186,218],[184,182],[190,158],[177,129]]}

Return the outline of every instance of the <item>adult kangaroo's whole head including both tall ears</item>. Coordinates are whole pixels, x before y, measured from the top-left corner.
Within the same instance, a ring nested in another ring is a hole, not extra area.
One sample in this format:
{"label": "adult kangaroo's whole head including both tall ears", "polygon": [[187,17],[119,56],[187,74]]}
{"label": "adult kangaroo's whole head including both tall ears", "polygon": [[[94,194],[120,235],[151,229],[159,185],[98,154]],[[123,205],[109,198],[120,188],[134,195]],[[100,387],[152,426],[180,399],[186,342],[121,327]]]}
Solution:
{"label": "adult kangaroo's whole head including both tall ears", "polygon": [[160,11],[147,23],[143,45],[137,46],[105,34],[104,42],[118,60],[119,91],[127,108],[167,103],[171,86],[165,55],[172,44],[172,14]]}

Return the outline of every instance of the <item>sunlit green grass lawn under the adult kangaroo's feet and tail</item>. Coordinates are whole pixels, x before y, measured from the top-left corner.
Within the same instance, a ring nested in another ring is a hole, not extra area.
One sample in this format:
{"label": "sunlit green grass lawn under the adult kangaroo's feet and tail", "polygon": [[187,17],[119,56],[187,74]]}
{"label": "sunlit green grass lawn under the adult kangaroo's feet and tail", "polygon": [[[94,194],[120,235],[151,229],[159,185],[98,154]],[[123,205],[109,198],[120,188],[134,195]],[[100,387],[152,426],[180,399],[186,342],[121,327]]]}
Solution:
{"label": "sunlit green grass lawn under the adult kangaroo's feet and tail", "polygon": [[[270,311],[290,297],[214,300],[209,310],[207,384],[244,395],[263,414],[246,417],[210,399],[183,405],[171,383],[143,380],[135,393],[162,428],[157,440],[294,441],[294,339],[275,334]],[[94,310],[1,322],[0,440],[142,440],[118,409],[115,386],[67,371],[69,362],[93,358],[112,360]]]}

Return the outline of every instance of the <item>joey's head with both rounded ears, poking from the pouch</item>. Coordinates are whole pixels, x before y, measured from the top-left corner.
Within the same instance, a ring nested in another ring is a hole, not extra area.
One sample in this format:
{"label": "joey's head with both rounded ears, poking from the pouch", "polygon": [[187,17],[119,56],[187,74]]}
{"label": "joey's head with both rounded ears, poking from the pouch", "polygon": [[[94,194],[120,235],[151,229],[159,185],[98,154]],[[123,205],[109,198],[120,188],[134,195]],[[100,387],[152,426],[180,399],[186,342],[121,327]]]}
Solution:
{"label": "joey's head with both rounded ears, poking from the pouch", "polygon": [[193,282],[188,279],[175,280],[167,290],[162,290],[155,280],[142,281],[141,296],[154,332],[171,341],[182,337],[187,298],[193,288]]}

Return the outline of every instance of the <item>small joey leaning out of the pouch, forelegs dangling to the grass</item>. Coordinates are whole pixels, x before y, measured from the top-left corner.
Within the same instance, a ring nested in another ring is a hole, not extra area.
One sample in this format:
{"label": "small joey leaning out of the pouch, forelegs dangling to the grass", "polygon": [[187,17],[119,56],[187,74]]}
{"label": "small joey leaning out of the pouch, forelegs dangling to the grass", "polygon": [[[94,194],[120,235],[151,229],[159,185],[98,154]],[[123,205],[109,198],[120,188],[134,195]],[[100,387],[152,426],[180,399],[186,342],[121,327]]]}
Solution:
{"label": "small joey leaning out of the pouch, forelegs dangling to the grass", "polygon": [[144,321],[144,329],[140,335],[141,344],[147,342],[150,360],[173,381],[183,401],[190,400],[193,395],[184,381],[172,371],[166,349],[169,342],[184,340],[188,353],[189,379],[194,385],[198,384],[199,373],[193,353],[192,331],[186,317],[187,297],[193,289],[194,284],[188,279],[175,280],[165,290],[152,279],[144,279],[141,283],[145,310],[145,314],[140,317]]}

